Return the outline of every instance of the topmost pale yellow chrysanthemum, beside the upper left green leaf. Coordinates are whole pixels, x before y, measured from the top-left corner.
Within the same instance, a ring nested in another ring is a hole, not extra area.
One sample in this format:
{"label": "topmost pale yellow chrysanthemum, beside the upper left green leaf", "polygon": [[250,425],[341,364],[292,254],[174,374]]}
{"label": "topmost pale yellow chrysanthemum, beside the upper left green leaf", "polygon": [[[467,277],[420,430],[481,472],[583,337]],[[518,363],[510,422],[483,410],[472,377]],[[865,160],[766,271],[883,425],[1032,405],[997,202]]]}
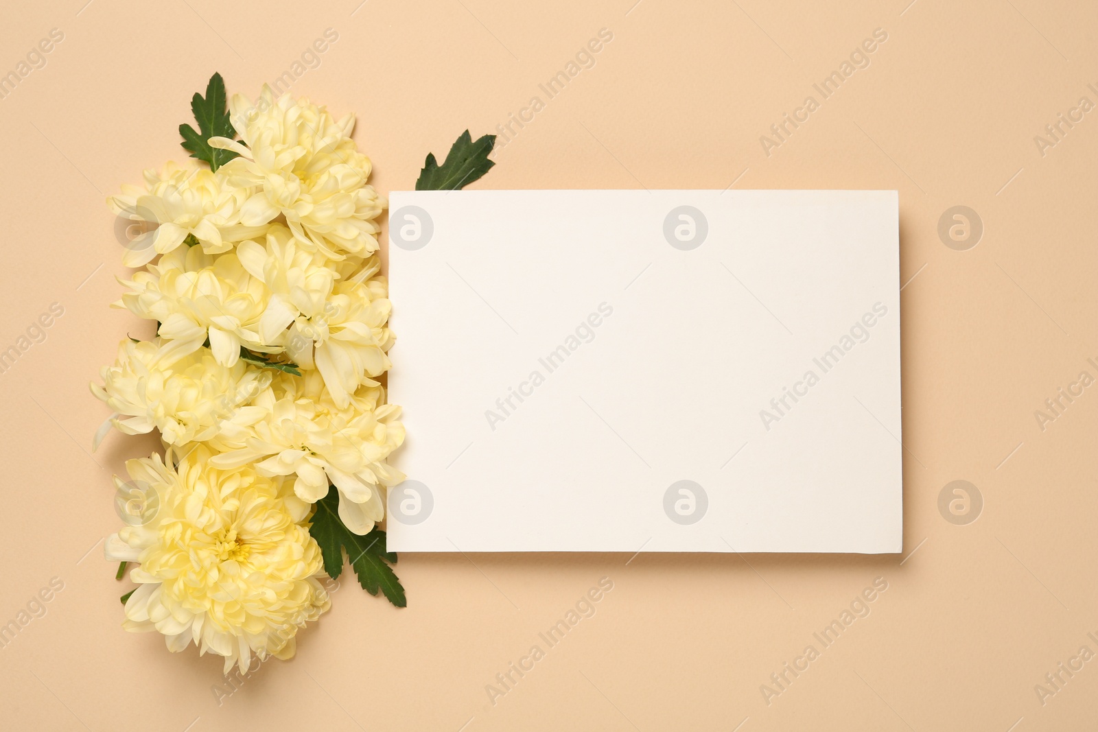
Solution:
{"label": "topmost pale yellow chrysanthemum, beside the upper left green leaf", "polygon": [[388,203],[366,182],[370,159],[350,138],[354,114],[336,121],[307,99],[274,100],[266,85],[256,104],[234,94],[228,108],[243,144],[211,137],[210,145],[237,153],[219,172],[256,191],[243,206],[243,223],[259,226],[282,215],[305,246],[332,259],[378,249],[374,219]]}

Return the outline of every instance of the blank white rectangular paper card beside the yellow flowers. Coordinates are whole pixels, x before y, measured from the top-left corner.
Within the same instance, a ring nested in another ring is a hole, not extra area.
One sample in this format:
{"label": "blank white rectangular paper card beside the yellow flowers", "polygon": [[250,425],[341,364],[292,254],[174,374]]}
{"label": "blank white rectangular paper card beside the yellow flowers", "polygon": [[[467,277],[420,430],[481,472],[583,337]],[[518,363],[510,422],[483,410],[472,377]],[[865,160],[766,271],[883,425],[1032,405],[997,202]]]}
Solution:
{"label": "blank white rectangular paper card beside the yellow flowers", "polygon": [[391,550],[901,550],[896,191],[390,210]]}

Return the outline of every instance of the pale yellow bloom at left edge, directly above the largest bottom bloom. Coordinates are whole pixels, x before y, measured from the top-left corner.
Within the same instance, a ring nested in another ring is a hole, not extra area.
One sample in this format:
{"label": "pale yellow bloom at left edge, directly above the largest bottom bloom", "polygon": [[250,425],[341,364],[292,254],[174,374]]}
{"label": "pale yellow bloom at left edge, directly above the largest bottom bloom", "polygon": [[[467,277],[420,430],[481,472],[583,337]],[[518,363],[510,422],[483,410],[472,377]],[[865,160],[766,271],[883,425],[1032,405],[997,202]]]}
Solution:
{"label": "pale yellow bloom at left edge, directly above the largest bottom bloom", "polygon": [[223,365],[208,348],[180,356],[179,342],[119,344],[114,365],[100,370],[103,385],[91,384],[92,394],[115,413],[110,424],[126,435],[158,429],[165,443],[182,446],[231,438],[265,416],[248,405],[270,384],[269,369],[244,361]]}

